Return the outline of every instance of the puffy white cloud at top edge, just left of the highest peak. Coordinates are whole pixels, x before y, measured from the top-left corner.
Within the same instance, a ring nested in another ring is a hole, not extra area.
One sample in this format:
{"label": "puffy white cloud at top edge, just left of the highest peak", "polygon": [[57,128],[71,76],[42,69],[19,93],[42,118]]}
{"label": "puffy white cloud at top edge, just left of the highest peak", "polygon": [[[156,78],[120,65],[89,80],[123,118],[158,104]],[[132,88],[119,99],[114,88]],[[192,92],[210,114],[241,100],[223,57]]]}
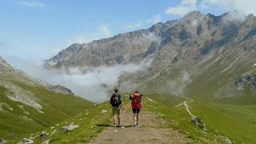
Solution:
{"label": "puffy white cloud at top edge, just left of the highest peak", "polygon": [[196,2],[197,0],[182,0],[178,6],[168,7],[166,14],[185,15],[192,10],[198,10]]}

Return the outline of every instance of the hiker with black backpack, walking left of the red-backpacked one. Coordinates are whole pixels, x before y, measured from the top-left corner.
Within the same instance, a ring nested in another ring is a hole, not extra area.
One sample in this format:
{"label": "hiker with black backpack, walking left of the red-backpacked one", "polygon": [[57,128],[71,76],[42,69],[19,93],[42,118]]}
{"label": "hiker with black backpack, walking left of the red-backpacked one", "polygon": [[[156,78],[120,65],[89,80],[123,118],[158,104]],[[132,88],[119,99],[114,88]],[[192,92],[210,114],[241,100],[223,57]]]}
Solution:
{"label": "hiker with black backpack, walking left of the red-backpacked one", "polygon": [[118,94],[118,88],[114,89],[114,94],[112,94],[110,98],[110,104],[112,105],[112,114],[113,114],[113,121],[114,127],[116,127],[116,117],[118,115],[118,126],[120,126],[120,105],[122,105],[122,110],[125,110],[122,102],[121,94]]}

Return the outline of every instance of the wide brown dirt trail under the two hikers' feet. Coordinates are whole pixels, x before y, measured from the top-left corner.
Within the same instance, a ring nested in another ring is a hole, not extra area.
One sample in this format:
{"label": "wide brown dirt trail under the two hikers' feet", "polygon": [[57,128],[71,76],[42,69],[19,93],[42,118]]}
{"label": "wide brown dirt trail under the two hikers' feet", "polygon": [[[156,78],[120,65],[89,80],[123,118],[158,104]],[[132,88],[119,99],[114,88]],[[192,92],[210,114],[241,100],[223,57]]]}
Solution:
{"label": "wide brown dirt trail under the two hikers' feet", "polygon": [[[90,143],[187,143],[186,135],[177,130],[159,128],[164,127],[165,121],[149,111],[142,111],[142,121],[133,127],[133,114],[130,104],[125,106],[121,114],[121,126],[108,126],[97,138]],[[141,114],[139,115],[141,118]]]}

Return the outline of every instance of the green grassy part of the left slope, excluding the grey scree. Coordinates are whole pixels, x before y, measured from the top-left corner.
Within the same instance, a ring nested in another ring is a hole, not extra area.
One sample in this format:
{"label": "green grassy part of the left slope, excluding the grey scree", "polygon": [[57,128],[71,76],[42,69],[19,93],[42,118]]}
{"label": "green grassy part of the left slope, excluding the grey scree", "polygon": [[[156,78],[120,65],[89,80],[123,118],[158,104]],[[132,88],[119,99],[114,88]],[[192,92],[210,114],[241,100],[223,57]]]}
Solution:
{"label": "green grassy part of the left slope, excluding the grey scree", "polygon": [[42,106],[42,113],[34,107],[27,106],[22,102],[14,102],[6,97],[12,92],[0,86],[0,135],[1,138],[12,142],[17,138],[24,138],[27,134],[32,134],[46,127],[70,118],[93,106],[82,98],[69,94],[56,94],[46,90],[42,86],[27,86],[26,84],[14,82],[16,86],[30,91],[37,98]]}

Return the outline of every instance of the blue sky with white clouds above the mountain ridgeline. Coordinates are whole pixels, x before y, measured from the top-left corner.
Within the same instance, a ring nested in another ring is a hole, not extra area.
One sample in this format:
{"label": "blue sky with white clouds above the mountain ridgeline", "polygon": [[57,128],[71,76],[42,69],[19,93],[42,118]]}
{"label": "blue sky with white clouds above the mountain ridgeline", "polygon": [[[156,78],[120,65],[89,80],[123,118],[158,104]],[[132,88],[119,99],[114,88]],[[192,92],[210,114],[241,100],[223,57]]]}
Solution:
{"label": "blue sky with white clouds above the mountain ridgeline", "polygon": [[[191,10],[254,13],[251,0],[2,0],[0,55],[41,62],[74,42],[90,42],[156,22],[181,18]],[[245,6],[250,11],[243,10]]]}

